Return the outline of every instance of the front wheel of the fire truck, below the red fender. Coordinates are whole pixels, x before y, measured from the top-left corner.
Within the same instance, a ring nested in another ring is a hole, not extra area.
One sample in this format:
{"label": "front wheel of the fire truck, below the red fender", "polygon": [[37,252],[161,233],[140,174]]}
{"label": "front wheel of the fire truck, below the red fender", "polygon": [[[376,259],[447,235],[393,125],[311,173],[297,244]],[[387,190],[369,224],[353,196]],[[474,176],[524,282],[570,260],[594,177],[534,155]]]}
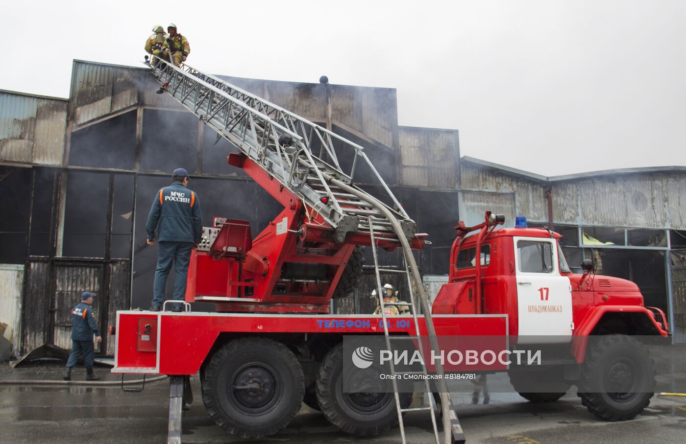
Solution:
{"label": "front wheel of the fire truck, below the red fender", "polygon": [[602,336],[586,351],[578,385],[578,396],[593,415],[627,421],[650,404],[655,362],[635,338]]}

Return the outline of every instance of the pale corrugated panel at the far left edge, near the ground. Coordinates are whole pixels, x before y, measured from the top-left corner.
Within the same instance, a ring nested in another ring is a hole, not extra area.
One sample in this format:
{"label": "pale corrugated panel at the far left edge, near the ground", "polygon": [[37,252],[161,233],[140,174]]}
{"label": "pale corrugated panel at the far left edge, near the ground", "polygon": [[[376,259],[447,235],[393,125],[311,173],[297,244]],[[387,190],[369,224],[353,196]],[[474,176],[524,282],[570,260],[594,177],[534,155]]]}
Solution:
{"label": "pale corrugated panel at the far left edge, near the ground", "polygon": [[5,339],[15,350],[21,341],[21,291],[24,266],[0,264],[0,323],[4,323]]}

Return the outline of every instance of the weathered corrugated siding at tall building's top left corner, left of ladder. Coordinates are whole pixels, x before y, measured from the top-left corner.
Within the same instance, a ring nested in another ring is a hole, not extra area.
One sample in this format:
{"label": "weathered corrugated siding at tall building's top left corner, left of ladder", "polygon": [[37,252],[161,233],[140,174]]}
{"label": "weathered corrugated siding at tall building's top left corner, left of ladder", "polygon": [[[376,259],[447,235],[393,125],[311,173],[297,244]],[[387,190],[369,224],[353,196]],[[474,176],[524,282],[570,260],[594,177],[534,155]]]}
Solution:
{"label": "weathered corrugated siding at tall building's top left corner, left of ladder", "polygon": [[[74,62],[71,107],[76,125],[139,103],[138,90],[147,71],[123,66]],[[154,90],[152,89],[152,93]]]}

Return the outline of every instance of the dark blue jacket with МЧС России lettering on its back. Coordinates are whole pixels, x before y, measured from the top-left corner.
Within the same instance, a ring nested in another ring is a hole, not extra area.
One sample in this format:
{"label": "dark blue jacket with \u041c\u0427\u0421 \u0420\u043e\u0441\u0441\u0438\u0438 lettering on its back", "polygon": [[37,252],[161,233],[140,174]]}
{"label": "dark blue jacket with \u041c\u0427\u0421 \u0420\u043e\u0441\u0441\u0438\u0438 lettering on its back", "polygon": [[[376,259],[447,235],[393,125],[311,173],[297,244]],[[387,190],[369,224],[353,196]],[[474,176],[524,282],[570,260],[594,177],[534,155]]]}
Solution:
{"label": "dark blue jacket with \u041c\u0427\u0421 \u0420\u043e\u0441\u0441\u0438\u0438 lettering on its back", "polygon": [[179,182],[165,186],[152,201],[145,230],[148,239],[200,243],[202,212],[198,195]]}

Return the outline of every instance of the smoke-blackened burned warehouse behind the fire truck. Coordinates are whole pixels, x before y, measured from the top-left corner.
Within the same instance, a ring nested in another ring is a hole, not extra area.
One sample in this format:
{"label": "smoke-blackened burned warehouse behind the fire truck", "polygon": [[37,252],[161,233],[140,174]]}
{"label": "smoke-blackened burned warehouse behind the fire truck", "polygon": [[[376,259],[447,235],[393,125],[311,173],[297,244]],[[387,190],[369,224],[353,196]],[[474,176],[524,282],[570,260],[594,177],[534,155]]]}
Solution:
{"label": "smoke-blackened burned warehouse behind the fire truck", "polygon": [[[536,175],[460,158],[458,130],[398,125],[392,88],[222,78],[365,148],[429,234],[416,258],[434,296],[447,280],[453,227],[492,210],[506,226],[523,216],[563,234],[573,271],[592,258],[599,275],[635,282],[646,306],[668,314],[673,341],[686,341],[686,168]],[[259,233],[281,211],[227,163],[235,147],[157,88],[147,69],[77,60],[68,99],[0,91],[0,333],[17,356],[44,344],[69,349],[83,291],[99,293],[103,330],[117,310],[150,305],[157,246],[145,243],[145,219],[174,169],[189,172],[205,225],[244,219]],[[377,186],[364,165],[353,179]],[[379,260],[394,266],[399,254],[379,249]],[[367,271],[333,301],[335,312],[374,310]],[[110,356],[114,338],[103,339],[97,351]]]}

